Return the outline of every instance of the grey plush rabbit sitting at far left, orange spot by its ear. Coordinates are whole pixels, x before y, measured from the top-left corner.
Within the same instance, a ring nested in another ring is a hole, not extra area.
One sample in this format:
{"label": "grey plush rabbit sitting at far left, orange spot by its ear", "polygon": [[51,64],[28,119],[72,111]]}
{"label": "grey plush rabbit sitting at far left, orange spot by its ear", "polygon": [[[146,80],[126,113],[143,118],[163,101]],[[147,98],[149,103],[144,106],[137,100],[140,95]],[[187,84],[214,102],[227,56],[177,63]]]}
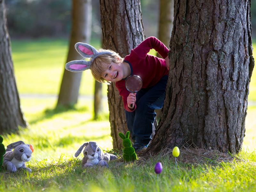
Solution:
{"label": "grey plush rabbit sitting at far left, orange spot by its ear", "polygon": [[9,172],[16,172],[19,168],[27,169],[28,172],[31,172],[31,169],[26,167],[25,162],[28,162],[31,159],[33,151],[33,146],[25,144],[23,141],[11,143],[6,147],[3,166]]}

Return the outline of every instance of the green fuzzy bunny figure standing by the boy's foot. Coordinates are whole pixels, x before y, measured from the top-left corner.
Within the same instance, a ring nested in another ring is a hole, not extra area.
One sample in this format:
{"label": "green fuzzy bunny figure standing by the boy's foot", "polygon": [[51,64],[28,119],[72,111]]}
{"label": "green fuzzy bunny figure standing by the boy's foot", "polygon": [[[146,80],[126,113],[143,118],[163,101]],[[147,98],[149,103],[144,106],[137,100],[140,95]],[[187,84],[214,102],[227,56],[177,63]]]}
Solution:
{"label": "green fuzzy bunny figure standing by the boy's foot", "polygon": [[132,147],[132,142],[129,139],[130,132],[127,131],[125,136],[123,133],[118,133],[119,137],[123,140],[123,159],[124,161],[135,161],[138,159],[137,154],[135,153],[134,148]]}

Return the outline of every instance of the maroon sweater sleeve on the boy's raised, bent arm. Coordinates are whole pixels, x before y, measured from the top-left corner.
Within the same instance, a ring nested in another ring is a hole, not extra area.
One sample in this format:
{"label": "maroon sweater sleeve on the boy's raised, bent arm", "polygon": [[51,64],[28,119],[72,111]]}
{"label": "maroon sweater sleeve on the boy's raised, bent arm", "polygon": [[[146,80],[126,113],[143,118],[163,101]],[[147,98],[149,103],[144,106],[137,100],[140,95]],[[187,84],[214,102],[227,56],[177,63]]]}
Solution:
{"label": "maroon sweater sleeve on the boy's raised, bent arm", "polygon": [[169,49],[160,40],[153,36],[146,38],[132,51],[134,51],[139,57],[145,58],[150,49],[155,49],[163,58],[168,56]]}

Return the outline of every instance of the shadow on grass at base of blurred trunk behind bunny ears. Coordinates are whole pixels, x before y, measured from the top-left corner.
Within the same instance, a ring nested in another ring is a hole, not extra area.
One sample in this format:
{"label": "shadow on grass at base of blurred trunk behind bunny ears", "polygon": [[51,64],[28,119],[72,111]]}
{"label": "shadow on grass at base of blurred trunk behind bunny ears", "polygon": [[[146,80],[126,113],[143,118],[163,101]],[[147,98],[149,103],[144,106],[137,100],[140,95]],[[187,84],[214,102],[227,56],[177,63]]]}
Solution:
{"label": "shadow on grass at base of blurred trunk behind bunny ears", "polygon": [[35,124],[38,121],[42,121],[45,119],[50,119],[52,116],[65,113],[67,111],[78,111],[78,112],[85,112],[88,111],[87,107],[79,107],[77,108],[76,105],[69,105],[69,106],[57,106],[56,108],[53,109],[45,109],[44,114],[41,116],[38,116],[37,118],[31,120],[29,124]]}

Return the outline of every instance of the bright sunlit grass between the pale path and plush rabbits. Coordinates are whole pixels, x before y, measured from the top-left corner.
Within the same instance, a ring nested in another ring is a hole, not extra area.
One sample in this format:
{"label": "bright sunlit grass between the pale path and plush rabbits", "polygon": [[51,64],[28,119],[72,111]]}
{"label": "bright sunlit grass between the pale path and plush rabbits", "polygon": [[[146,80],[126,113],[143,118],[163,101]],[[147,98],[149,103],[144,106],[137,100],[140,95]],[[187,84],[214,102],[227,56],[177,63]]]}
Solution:
{"label": "bright sunlit grass between the pale path and plush rabbits", "polygon": [[22,98],[24,116],[28,128],[20,128],[19,134],[4,136],[4,145],[23,140],[35,148],[31,164],[38,161],[51,162],[60,156],[68,159],[76,150],[90,140],[97,141],[104,150],[112,149],[107,100],[103,100],[103,120],[92,119],[91,99],[80,99],[71,108],[58,107],[56,98]]}

